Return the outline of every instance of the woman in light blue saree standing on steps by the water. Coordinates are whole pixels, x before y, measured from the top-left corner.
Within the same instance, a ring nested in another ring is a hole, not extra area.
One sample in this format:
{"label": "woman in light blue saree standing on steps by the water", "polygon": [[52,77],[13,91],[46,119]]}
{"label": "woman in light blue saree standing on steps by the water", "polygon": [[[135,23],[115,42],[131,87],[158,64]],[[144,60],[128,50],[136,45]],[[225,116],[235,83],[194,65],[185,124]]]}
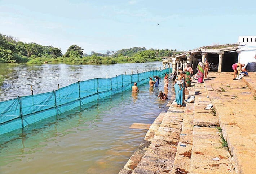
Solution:
{"label": "woman in light blue saree standing on steps by the water", "polygon": [[184,91],[184,74],[180,73],[175,79],[174,84],[175,100],[177,106],[181,107],[183,104],[183,91]]}

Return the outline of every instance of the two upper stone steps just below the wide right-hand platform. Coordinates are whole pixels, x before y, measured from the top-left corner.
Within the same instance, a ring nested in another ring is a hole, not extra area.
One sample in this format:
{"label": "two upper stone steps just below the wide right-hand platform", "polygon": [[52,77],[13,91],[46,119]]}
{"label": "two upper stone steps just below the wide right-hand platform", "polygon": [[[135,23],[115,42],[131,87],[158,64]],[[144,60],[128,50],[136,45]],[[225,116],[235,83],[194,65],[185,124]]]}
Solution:
{"label": "two upper stone steps just below the wide right-hand platform", "polygon": [[[189,95],[195,95],[195,102],[186,106],[179,145],[184,141],[188,144],[178,146],[172,173],[235,173],[216,129],[218,117],[213,110],[204,109],[211,103],[206,87],[195,84]],[[217,161],[212,160],[216,157]]]}

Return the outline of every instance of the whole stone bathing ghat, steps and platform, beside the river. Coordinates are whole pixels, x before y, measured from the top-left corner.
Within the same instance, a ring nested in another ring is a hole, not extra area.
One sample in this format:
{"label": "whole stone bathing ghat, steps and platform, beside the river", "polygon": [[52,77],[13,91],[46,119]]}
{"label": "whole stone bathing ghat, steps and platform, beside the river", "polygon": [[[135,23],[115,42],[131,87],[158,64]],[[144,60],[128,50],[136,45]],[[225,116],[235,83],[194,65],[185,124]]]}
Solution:
{"label": "whole stone bathing ghat, steps and platform, beside the river", "polygon": [[[125,173],[250,173],[256,164],[256,78],[232,80],[231,72],[210,72],[194,82],[185,108],[168,103],[149,128]],[[213,104],[212,110],[205,110]],[[220,126],[220,133],[216,127]],[[221,137],[224,141],[221,141]],[[226,141],[226,142],[225,142]],[[222,145],[228,145],[228,151]]]}

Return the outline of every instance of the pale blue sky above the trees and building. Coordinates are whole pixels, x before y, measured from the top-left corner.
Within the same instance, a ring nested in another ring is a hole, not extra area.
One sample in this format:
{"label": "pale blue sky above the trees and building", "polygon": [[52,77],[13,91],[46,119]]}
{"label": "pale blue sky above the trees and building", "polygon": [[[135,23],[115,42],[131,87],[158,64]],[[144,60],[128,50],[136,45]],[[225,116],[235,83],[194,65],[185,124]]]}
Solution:
{"label": "pale blue sky above the trees and building", "polygon": [[191,50],[256,35],[256,1],[0,0],[0,33],[106,53],[131,47]]}

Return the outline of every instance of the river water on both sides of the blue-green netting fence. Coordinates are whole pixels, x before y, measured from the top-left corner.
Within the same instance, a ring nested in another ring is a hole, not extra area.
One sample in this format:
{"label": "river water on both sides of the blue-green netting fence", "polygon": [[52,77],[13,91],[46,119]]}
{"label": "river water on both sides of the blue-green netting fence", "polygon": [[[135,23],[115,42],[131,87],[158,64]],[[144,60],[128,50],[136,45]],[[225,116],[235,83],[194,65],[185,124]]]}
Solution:
{"label": "river water on both sides of the blue-green netting fence", "polygon": [[[0,99],[12,99],[92,78],[162,68],[161,62],[114,65],[0,64],[5,76]],[[147,132],[134,123],[150,125],[168,101],[164,91],[139,86],[0,136],[0,173],[118,173]],[[172,95],[171,87],[165,90]]]}

